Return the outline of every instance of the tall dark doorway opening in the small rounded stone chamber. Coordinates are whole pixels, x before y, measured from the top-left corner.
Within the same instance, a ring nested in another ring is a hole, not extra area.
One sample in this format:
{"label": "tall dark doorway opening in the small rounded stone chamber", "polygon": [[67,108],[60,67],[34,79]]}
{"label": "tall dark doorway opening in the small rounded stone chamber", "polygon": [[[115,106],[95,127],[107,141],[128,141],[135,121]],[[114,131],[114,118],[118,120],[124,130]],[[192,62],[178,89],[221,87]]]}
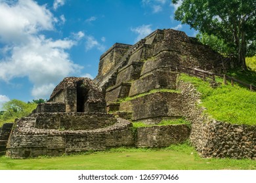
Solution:
{"label": "tall dark doorway opening in the small rounded stone chamber", "polygon": [[85,112],[85,102],[87,101],[87,88],[83,81],[78,81],[76,84],[77,93],[77,112]]}

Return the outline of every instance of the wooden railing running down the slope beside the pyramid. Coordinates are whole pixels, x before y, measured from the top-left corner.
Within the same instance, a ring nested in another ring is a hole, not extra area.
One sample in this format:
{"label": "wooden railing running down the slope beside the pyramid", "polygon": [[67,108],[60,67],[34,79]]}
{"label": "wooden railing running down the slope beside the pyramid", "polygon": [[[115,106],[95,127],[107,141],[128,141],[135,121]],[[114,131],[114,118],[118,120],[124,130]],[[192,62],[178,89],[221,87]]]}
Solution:
{"label": "wooden railing running down the slope beside the pyramid", "polygon": [[241,84],[242,86],[245,86],[246,88],[249,88],[250,91],[256,91],[256,86],[253,86],[252,84],[247,84],[246,82],[243,82],[242,80],[238,80],[236,78],[227,76],[227,75],[222,75],[222,74],[217,74],[217,73],[211,73],[209,71],[204,71],[202,69],[197,69],[197,68],[190,68],[190,67],[184,67],[182,65],[176,65],[172,66],[171,69],[181,72],[181,73],[186,73],[188,75],[193,75],[199,78],[202,78],[203,80],[206,80],[206,78],[209,78],[213,81],[215,81],[215,76],[219,76],[223,78],[224,84],[227,84],[227,81],[229,80],[234,86],[234,82]]}

